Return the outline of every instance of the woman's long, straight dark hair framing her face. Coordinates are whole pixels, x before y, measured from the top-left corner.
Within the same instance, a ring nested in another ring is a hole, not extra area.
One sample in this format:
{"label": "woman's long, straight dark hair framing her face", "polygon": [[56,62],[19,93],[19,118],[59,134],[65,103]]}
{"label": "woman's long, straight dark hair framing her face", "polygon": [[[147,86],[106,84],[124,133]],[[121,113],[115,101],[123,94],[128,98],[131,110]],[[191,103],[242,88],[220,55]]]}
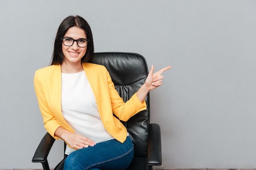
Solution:
{"label": "woman's long, straight dark hair framing her face", "polygon": [[52,63],[54,64],[61,64],[65,57],[62,52],[62,40],[61,38],[67,33],[67,30],[73,26],[76,26],[78,28],[83,29],[85,31],[86,37],[89,40],[87,45],[87,50],[85,52],[85,55],[82,57],[81,62],[92,62],[94,57],[94,46],[93,46],[93,38],[92,38],[92,30],[88,24],[88,22],[83,19],[83,17],[80,17],[79,15],[76,16],[69,16],[66,17],[63,22],[61,22],[60,26],[58,27],[58,32],[56,34],[56,38],[54,41],[54,50],[52,53]]}

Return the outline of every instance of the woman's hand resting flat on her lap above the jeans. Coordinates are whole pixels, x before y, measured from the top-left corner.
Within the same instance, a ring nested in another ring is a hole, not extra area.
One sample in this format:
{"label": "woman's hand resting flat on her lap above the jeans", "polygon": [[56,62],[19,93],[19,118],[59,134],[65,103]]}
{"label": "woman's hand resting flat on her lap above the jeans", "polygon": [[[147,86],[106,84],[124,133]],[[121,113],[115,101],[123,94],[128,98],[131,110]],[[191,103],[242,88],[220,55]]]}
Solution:
{"label": "woman's hand resting flat on her lap above the jeans", "polygon": [[88,146],[96,145],[96,143],[88,137],[72,133],[66,129],[63,129],[62,127],[58,127],[58,129],[55,131],[55,135],[61,137],[61,139],[65,140],[69,146],[76,149],[87,148]]}

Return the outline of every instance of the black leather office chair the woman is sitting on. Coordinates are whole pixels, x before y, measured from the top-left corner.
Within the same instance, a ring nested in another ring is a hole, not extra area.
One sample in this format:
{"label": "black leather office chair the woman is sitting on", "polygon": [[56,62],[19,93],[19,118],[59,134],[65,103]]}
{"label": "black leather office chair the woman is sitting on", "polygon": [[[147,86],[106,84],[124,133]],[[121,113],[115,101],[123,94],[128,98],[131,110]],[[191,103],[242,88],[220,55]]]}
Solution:
{"label": "black leather office chair the woman is sitting on", "polygon": [[[145,82],[148,75],[146,60],[139,54],[122,52],[95,53],[92,63],[105,65],[119,95],[127,101]],[[128,170],[152,170],[152,166],[162,164],[161,134],[158,124],[149,124],[149,94],[146,97],[147,109],[137,113],[127,122],[122,122],[134,143],[135,153]],[[44,170],[49,170],[48,153],[55,139],[46,133],[41,140],[32,162],[40,162]],[[65,146],[64,146],[65,149]],[[63,161],[55,168],[63,169]]]}

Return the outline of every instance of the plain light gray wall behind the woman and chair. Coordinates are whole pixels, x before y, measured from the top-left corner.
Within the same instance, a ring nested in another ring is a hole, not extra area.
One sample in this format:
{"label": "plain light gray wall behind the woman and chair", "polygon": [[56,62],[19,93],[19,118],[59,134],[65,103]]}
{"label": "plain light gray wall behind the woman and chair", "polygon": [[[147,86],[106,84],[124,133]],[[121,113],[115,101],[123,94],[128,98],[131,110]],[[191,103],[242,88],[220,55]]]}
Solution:
{"label": "plain light gray wall behind the woman and chair", "polygon": [[[256,167],[256,1],[0,0],[0,168],[31,163],[45,134],[35,70],[49,64],[68,15],[90,24],[95,52],[142,54],[164,73],[151,92],[162,168]],[[63,142],[50,153],[53,167]]]}

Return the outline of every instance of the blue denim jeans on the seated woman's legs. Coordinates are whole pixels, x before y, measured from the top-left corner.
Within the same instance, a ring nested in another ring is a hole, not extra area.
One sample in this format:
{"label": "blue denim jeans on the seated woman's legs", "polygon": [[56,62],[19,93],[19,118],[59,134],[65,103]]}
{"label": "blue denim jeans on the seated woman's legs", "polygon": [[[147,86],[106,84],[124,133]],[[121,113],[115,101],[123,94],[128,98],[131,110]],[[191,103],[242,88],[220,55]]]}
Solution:
{"label": "blue denim jeans on the seated woman's legs", "polygon": [[133,154],[130,137],[123,144],[111,139],[72,152],[65,160],[64,170],[125,170]]}

